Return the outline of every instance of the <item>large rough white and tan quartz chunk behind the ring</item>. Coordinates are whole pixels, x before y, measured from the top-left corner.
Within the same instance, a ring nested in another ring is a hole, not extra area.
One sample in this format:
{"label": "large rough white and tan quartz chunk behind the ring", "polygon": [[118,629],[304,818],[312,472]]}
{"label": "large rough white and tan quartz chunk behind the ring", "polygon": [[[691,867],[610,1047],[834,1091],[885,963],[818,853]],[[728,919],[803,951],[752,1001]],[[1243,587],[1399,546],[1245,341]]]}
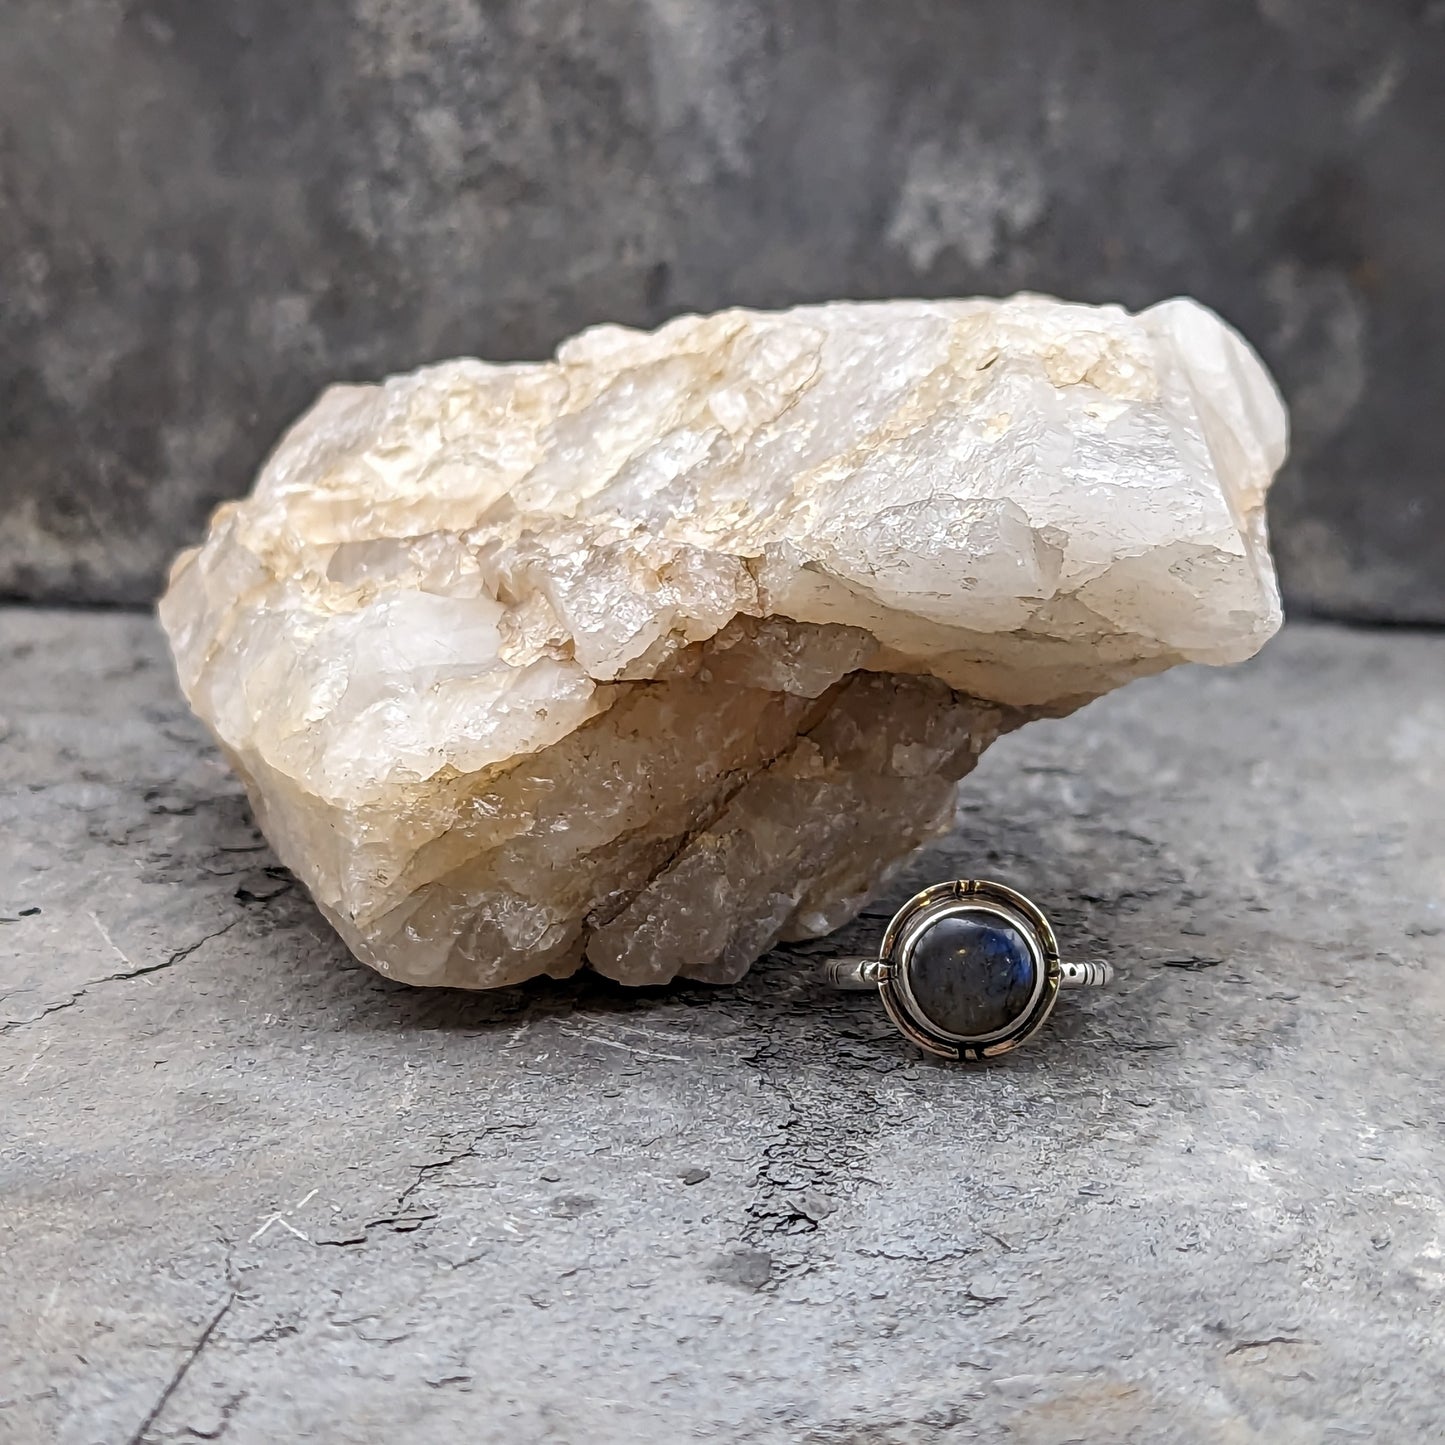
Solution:
{"label": "large rough white and tan quartz chunk behind the ring", "polygon": [[1191,301],[597,327],[328,390],[160,604],[358,958],[730,981],[1000,733],[1279,624],[1269,374]]}

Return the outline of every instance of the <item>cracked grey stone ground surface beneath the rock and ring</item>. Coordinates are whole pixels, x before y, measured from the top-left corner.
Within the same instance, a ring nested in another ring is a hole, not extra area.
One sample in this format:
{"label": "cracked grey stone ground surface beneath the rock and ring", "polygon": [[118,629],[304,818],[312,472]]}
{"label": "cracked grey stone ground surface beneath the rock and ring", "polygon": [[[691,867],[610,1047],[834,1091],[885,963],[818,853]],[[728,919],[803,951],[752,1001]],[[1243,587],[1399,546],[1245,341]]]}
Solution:
{"label": "cracked grey stone ground surface beneath the rock and ring", "polygon": [[[1033,724],[855,928],[643,993],[354,964],[149,618],[0,676],[0,1441],[1438,1432],[1445,637]],[[970,873],[1123,972],[983,1069],[816,981]]]}

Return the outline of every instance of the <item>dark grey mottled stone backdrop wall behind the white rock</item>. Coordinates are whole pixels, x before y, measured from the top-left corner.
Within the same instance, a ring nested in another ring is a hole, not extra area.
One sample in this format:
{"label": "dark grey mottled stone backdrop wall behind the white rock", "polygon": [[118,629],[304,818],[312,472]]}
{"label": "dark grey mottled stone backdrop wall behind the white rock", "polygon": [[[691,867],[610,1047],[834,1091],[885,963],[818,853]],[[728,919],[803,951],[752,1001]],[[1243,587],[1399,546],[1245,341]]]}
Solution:
{"label": "dark grey mottled stone backdrop wall behind the white rock", "polygon": [[832,296],[1189,292],[1296,610],[1445,621],[1441,0],[4,0],[0,595],[149,603],[334,379]]}

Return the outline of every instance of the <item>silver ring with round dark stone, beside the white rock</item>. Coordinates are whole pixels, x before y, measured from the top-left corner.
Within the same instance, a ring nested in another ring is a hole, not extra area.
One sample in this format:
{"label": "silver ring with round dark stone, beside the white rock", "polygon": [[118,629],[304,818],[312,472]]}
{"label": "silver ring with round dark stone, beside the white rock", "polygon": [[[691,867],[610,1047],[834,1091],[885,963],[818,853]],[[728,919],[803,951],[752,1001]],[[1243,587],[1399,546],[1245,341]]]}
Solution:
{"label": "silver ring with round dark stone, beside the white rock", "polygon": [[945,1059],[1007,1053],[1043,1027],[1061,988],[1113,980],[1110,964],[1061,964],[1042,909],[1003,883],[935,883],[893,915],[874,958],[835,958],[835,988],[877,988],[905,1038]]}

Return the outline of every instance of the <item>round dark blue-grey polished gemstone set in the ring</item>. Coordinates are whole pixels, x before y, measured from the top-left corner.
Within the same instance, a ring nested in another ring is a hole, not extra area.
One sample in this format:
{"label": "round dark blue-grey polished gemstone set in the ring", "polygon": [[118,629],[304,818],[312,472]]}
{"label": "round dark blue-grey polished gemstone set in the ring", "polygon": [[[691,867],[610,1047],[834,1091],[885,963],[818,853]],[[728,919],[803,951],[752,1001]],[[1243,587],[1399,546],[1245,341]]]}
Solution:
{"label": "round dark blue-grey polished gemstone set in the ring", "polygon": [[965,1039],[1013,1023],[1038,977],[1029,941],[993,913],[941,918],[913,945],[907,974],[923,1017]]}

